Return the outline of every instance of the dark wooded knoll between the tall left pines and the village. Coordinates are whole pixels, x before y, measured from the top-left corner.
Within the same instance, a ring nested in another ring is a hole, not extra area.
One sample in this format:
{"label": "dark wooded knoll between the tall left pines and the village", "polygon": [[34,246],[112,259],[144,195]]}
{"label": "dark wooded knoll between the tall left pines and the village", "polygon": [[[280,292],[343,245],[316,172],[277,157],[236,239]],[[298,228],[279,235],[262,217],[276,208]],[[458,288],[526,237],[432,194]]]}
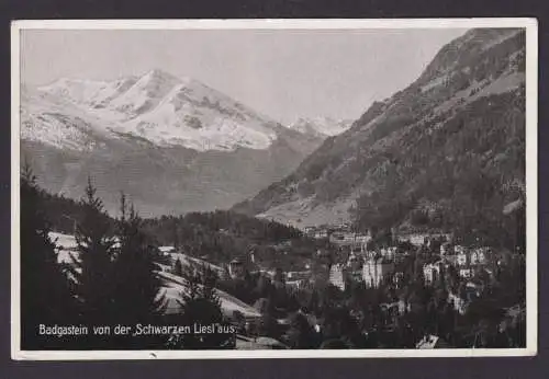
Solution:
{"label": "dark wooded knoll between the tall left pines and the village", "polygon": [[159,244],[214,264],[254,252],[262,266],[299,269],[317,244],[295,228],[225,210],[146,219],[144,228]]}

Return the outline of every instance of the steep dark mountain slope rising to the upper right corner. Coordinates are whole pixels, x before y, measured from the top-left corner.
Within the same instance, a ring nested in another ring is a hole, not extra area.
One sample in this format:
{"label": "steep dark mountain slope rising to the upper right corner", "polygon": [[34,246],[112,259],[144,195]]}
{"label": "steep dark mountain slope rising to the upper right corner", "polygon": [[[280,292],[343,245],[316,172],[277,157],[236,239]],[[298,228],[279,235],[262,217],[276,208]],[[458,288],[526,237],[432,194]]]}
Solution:
{"label": "steep dark mountain slope rising to the upper right corner", "polygon": [[464,228],[497,219],[524,184],[525,32],[472,30],[234,209],[300,227],[356,218],[363,227]]}

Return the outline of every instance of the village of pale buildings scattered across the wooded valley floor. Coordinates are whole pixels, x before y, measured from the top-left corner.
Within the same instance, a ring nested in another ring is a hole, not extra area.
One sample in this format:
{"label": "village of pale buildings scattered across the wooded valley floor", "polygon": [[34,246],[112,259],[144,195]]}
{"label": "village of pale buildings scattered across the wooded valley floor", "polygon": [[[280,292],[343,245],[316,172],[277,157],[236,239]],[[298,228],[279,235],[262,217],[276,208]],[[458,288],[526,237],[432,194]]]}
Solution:
{"label": "village of pale buildings scattered across the wooded valley floor", "polygon": [[[391,243],[383,245],[372,243],[370,233],[354,232],[350,226],[309,228],[304,234],[325,242],[325,248],[312,254],[313,260],[307,261],[305,269],[283,272],[277,267],[264,266],[254,250],[219,266],[184,255],[172,246],[163,246],[160,250],[171,262],[165,266],[166,274],[163,275],[173,272],[173,266],[179,261],[194,266],[194,269],[206,264],[216,272],[221,282],[238,283],[248,280],[250,275],[264,277],[289,294],[311,291],[320,286],[337,288],[341,294],[348,294],[357,286],[366,290],[389,291],[393,296],[378,305],[378,311],[384,314],[385,320],[384,325],[378,326],[391,329],[391,323],[394,324],[395,320],[414,312],[416,305],[407,288],[417,285],[417,280],[432,291],[444,290],[449,309],[464,317],[471,303],[491,296],[492,285],[501,280],[502,272],[508,271],[509,266],[522,259],[520,255],[500,252],[486,245],[459,244],[449,233],[393,236]],[[235,319],[235,313],[244,315],[247,326],[242,334],[255,338],[260,336],[250,325],[260,323],[265,315],[261,299],[255,305],[232,300],[233,305],[228,306],[228,294],[220,294],[224,303],[222,308],[228,318]],[[237,307],[234,306],[235,302],[238,303]],[[322,322],[311,310],[299,307],[298,312],[307,317],[315,331],[321,331]],[[504,319],[515,325],[525,315],[524,303],[509,305],[502,312],[505,313]],[[278,314],[277,323],[289,328],[291,318],[292,312],[282,312]],[[503,322],[498,328],[505,330],[507,323]],[[444,346],[451,345],[435,334],[426,334],[415,343],[416,348]]]}

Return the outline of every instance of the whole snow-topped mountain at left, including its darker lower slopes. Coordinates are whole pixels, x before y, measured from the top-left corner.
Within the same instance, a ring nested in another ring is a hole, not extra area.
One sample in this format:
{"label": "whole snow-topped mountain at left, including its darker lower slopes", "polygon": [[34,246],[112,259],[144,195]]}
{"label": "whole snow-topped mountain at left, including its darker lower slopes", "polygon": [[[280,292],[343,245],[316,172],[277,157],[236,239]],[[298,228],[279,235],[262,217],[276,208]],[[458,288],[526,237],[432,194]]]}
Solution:
{"label": "whole snow-topped mountain at left, including its darker lower slopes", "polygon": [[159,70],[22,89],[21,139],[47,191],[80,197],[91,175],[110,211],[124,191],[145,215],[227,208],[322,141]]}

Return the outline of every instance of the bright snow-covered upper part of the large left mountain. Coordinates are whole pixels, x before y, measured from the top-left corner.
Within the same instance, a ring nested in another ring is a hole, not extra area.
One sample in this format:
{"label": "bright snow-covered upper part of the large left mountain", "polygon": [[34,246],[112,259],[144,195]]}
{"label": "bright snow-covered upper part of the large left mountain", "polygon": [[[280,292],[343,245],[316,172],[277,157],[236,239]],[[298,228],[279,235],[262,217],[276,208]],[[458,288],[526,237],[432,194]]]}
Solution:
{"label": "bright snow-covered upper part of the large left mountain", "polygon": [[[35,128],[55,129],[49,136],[53,145],[64,139],[53,108],[63,111],[64,120],[76,118],[72,126],[83,127],[66,129],[72,141],[77,133],[122,133],[161,146],[226,151],[267,149],[278,138],[273,120],[197,80],[160,70],[114,81],[60,79],[32,92],[23,99],[23,134],[33,139]],[[48,141],[48,136],[36,133],[35,139]],[[86,149],[87,139],[79,139],[80,149]]]}

